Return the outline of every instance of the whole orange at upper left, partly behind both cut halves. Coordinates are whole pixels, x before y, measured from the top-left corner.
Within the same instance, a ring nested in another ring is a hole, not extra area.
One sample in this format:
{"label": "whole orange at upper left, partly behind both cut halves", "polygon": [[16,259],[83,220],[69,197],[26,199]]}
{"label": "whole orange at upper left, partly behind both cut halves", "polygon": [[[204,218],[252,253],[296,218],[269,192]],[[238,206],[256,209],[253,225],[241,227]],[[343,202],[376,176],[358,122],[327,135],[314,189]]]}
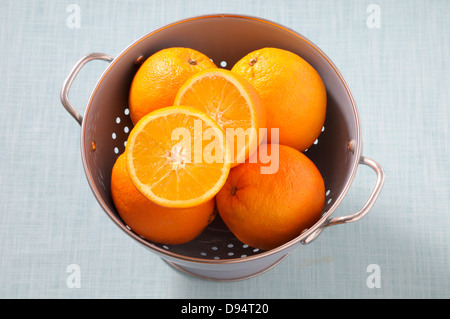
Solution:
{"label": "whole orange at upper left, partly behind both cut halves", "polygon": [[131,83],[129,109],[133,124],[151,111],[172,106],[178,89],[191,75],[215,66],[209,57],[190,48],[172,47],[152,54]]}

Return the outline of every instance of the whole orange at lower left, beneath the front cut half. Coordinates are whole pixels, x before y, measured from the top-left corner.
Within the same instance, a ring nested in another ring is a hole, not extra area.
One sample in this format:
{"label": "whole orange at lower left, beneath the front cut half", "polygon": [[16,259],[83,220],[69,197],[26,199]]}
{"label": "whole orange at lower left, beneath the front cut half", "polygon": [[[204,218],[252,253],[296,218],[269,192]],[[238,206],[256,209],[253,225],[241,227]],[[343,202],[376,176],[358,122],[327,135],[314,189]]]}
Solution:
{"label": "whole orange at lower left, beneath the front cut half", "polygon": [[131,182],[124,154],[113,166],[111,195],[125,224],[156,243],[186,243],[200,235],[215,217],[214,199],[191,208],[167,208],[148,200]]}

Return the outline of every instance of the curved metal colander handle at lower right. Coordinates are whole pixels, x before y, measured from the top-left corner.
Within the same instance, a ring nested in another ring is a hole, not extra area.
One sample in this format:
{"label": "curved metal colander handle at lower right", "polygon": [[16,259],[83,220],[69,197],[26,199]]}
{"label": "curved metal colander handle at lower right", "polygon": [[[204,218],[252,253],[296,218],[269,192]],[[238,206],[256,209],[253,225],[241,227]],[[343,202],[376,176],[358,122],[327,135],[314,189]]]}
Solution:
{"label": "curved metal colander handle at lower right", "polygon": [[373,204],[377,200],[378,195],[380,195],[381,189],[383,188],[385,174],[384,174],[384,170],[381,167],[381,165],[370,158],[361,156],[361,158],[359,159],[359,164],[369,166],[377,174],[377,181],[376,181],[375,187],[373,188],[372,193],[370,194],[367,202],[355,214],[327,219],[321,227],[319,227],[316,231],[311,233],[308,237],[306,237],[302,241],[303,244],[308,244],[312,240],[314,240],[322,232],[322,230],[325,227],[355,222],[355,221],[363,218],[370,211]]}

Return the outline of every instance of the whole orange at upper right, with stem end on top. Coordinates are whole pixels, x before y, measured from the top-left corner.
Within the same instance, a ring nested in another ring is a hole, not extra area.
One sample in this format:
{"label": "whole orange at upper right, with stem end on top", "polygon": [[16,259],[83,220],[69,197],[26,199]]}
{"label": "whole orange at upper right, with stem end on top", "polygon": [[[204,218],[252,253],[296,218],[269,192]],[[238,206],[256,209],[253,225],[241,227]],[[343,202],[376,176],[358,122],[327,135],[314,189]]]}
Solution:
{"label": "whole orange at upper right, with stem end on top", "polygon": [[279,129],[278,143],[300,151],[320,135],[326,114],[325,85],[317,71],[300,56],[278,48],[253,51],[231,69],[259,93],[271,128]]}

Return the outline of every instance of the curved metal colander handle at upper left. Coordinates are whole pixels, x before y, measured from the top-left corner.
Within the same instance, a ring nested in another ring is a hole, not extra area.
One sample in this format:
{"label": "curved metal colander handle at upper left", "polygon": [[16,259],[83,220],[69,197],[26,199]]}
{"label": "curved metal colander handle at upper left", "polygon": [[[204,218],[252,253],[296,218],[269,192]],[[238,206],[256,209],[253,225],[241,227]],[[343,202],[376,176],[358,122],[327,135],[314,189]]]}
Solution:
{"label": "curved metal colander handle at upper left", "polygon": [[69,112],[70,115],[78,122],[78,124],[81,125],[83,121],[83,117],[78,113],[78,111],[73,107],[72,103],[69,101],[69,89],[72,85],[73,80],[77,76],[78,72],[80,72],[81,68],[92,60],[104,60],[111,62],[114,58],[110,55],[104,54],[104,53],[90,53],[83,56],[78,62],[75,64],[75,66],[70,71],[67,78],[64,80],[60,98],[61,103],[64,106],[64,108]]}

